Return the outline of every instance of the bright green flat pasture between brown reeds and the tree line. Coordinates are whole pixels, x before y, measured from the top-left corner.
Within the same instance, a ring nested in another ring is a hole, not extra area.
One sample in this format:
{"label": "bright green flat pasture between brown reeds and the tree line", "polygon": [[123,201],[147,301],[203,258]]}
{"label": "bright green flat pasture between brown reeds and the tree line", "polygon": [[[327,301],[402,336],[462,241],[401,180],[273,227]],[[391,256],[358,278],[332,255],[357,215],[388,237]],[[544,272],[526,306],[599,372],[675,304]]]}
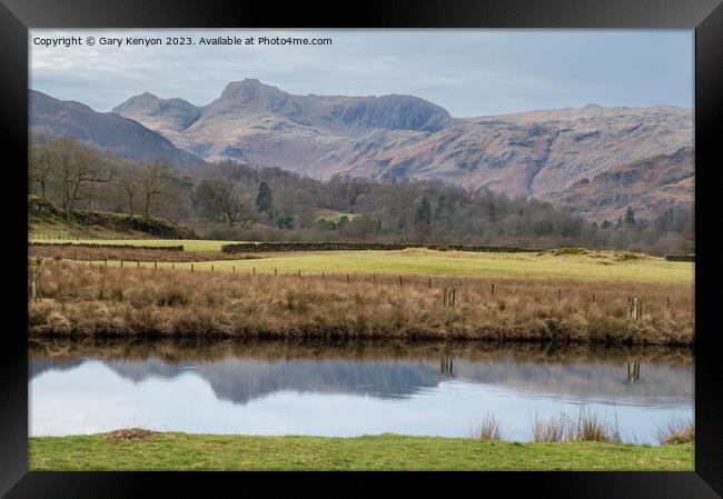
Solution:
{"label": "bright green flat pasture between brown reeds and the tree line", "polygon": [[[52,242],[52,241],[48,241]],[[204,240],[103,240],[105,244],[184,244],[187,251],[217,251],[229,241]],[[626,282],[693,283],[694,263],[673,262],[663,258],[642,256],[635,259],[616,257],[612,252],[590,255],[495,253],[405,249],[395,251],[291,251],[255,253],[250,260],[217,260],[194,263],[197,271],[211,270],[259,273],[318,275],[327,273],[386,273],[404,276],[449,276],[482,278],[542,278],[620,280]],[[108,261],[108,266],[117,266]],[[152,262],[141,263],[152,266]],[[159,268],[171,263],[159,262]],[[190,263],[176,263],[176,269],[190,270]]]}

